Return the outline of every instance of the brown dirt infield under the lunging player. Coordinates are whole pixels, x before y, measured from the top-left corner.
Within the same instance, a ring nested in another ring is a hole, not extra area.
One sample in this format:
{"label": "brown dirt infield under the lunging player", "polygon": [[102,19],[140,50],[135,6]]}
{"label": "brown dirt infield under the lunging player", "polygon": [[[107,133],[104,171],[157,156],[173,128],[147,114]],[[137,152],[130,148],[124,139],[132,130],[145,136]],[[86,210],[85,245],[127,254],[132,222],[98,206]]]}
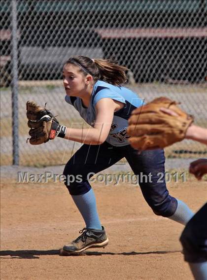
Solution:
{"label": "brown dirt infield under the lunging player", "polygon": [[[183,261],[183,226],[156,216],[138,186],[92,184],[109,244],[83,256],[60,256],[84,222],[63,183],[1,180],[1,280],[192,280]],[[196,211],[207,181],[169,183]]]}

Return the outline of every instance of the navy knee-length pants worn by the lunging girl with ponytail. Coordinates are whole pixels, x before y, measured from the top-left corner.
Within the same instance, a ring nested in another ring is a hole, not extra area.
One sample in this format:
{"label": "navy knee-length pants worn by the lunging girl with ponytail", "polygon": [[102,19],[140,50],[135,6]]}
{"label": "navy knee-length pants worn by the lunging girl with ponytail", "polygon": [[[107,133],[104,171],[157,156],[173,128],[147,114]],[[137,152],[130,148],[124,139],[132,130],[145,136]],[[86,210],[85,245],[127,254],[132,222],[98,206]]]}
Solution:
{"label": "navy knee-length pants worn by the lunging girl with ponytail", "polygon": [[144,199],[155,214],[169,217],[177,208],[177,200],[169,195],[165,179],[160,182],[158,173],[165,173],[165,156],[162,149],[138,151],[131,145],[122,147],[112,146],[107,142],[101,145],[83,144],[79,150],[70,158],[64,169],[64,175],[81,175],[81,182],[73,182],[66,179],[66,186],[71,195],[87,193],[91,185],[87,175],[91,172],[98,173],[112,166],[122,158],[126,158],[135,175],[149,175],[151,180],[139,182]]}

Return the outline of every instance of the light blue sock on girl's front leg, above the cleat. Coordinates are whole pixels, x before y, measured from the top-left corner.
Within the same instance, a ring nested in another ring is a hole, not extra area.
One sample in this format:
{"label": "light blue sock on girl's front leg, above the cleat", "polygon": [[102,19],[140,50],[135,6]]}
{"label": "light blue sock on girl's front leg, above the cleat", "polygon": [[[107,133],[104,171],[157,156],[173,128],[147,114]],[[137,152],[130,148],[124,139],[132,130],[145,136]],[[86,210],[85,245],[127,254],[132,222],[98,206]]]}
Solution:
{"label": "light blue sock on girl's front leg, above the cleat", "polygon": [[72,195],[72,199],[80,211],[87,228],[102,229],[96,207],[94,191],[90,189],[82,195]]}

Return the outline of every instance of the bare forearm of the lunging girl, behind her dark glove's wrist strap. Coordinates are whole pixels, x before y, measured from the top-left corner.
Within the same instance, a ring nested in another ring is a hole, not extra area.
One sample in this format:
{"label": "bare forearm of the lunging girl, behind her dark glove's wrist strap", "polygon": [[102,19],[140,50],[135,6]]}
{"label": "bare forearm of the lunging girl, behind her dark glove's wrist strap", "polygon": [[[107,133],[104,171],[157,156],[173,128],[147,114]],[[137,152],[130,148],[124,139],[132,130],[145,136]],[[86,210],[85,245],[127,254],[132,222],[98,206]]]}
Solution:
{"label": "bare forearm of the lunging girl, behind her dark glove's wrist strap", "polygon": [[93,127],[85,129],[67,128],[64,138],[90,145],[99,145],[104,141],[101,132]]}

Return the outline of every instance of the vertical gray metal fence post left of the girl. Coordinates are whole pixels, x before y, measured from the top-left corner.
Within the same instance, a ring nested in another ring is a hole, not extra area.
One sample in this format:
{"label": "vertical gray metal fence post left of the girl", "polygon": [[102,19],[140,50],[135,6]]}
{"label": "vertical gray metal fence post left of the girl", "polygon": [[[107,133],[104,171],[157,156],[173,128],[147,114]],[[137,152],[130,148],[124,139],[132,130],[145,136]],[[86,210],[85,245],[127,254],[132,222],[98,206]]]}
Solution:
{"label": "vertical gray metal fence post left of the girl", "polygon": [[17,46],[17,2],[12,0],[12,156],[13,165],[19,165],[19,119],[18,119],[18,46]]}

